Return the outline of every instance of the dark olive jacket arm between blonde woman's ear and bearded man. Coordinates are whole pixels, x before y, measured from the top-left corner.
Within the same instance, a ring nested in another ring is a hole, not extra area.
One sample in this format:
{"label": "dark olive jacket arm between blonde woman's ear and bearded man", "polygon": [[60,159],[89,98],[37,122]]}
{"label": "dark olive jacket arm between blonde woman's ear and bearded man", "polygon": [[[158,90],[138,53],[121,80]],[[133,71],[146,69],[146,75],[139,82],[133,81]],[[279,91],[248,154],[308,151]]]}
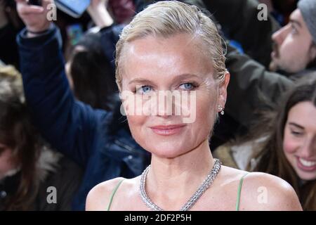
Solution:
{"label": "dark olive jacket arm between blonde woman's ear and bearded man", "polygon": [[[249,56],[228,46],[226,68],[230,72],[225,113],[249,127],[256,120],[256,112],[268,103],[277,103],[284,91],[293,85],[291,79],[274,72]],[[264,98],[264,99],[263,99]],[[263,101],[264,100],[264,101]]]}

